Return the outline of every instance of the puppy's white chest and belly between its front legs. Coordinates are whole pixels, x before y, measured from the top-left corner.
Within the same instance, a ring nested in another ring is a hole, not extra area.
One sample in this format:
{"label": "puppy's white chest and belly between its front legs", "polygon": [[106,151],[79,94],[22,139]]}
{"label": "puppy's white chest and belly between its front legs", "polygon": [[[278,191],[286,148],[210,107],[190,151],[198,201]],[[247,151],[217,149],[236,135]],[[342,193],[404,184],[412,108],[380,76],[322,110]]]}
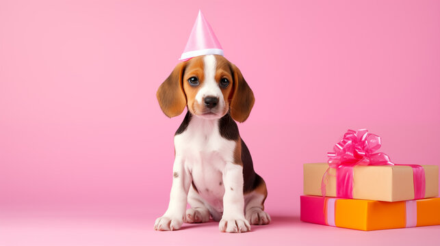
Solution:
{"label": "puppy's white chest and belly between its front legs", "polygon": [[235,144],[220,135],[217,121],[192,119],[187,129],[174,137],[176,154],[182,157],[199,195],[220,211],[222,174],[226,163],[233,162]]}

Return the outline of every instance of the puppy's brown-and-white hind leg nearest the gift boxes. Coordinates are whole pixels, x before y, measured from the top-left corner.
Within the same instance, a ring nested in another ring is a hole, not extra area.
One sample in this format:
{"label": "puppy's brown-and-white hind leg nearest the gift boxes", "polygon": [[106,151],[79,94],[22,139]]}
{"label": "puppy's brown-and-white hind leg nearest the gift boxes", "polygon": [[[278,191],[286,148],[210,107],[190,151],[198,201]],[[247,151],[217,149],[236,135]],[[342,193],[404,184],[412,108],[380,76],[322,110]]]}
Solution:
{"label": "puppy's brown-and-white hind leg nearest the gift boxes", "polygon": [[246,217],[251,225],[267,225],[270,223],[270,216],[264,211],[264,201],[267,196],[268,191],[264,181],[255,190],[244,195],[244,217]]}

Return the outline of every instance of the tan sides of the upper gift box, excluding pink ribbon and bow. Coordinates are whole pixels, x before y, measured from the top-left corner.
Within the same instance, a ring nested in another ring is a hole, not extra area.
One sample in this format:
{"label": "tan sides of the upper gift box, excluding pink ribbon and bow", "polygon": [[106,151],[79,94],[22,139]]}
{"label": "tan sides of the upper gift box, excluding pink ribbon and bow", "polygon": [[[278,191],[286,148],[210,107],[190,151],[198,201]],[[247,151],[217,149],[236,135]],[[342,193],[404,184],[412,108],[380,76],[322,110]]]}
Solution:
{"label": "tan sides of the upper gift box, excluding pink ribbon and bow", "polygon": [[[356,165],[352,167],[352,198],[396,202],[439,195],[439,166],[421,165],[424,171],[424,196],[415,197],[413,168],[409,165]],[[328,163],[304,164],[304,194],[337,195],[337,170]],[[422,182],[422,181],[419,181]]]}

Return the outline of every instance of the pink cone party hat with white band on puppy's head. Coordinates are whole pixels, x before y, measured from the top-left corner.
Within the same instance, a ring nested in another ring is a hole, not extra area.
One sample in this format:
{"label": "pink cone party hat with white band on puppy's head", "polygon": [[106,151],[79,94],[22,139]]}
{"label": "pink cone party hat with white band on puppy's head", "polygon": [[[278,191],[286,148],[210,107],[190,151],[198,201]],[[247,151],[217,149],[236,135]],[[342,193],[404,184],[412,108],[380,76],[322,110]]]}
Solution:
{"label": "pink cone party hat with white band on puppy's head", "polygon": [[223,55],[223,49],[216,34],[200,10],[198,10],[196,23],[192,27],[190,38],[180,60],[191,59],[199,55]]}

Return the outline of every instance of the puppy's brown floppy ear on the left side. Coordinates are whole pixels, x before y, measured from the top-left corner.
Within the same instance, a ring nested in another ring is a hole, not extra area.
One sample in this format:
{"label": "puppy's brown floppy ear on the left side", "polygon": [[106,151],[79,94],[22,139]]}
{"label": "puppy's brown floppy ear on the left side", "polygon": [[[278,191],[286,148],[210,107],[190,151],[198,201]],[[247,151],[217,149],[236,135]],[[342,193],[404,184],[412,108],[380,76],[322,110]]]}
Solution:
{"label": "puppy's brown floppy ear on the left side", "polygon": [[177,64],[170,76],[157,89],[157,100],[160,108],[169,118],[180,115],[186,106],[186,96],[183,92],[183,72],[186,62]]}

